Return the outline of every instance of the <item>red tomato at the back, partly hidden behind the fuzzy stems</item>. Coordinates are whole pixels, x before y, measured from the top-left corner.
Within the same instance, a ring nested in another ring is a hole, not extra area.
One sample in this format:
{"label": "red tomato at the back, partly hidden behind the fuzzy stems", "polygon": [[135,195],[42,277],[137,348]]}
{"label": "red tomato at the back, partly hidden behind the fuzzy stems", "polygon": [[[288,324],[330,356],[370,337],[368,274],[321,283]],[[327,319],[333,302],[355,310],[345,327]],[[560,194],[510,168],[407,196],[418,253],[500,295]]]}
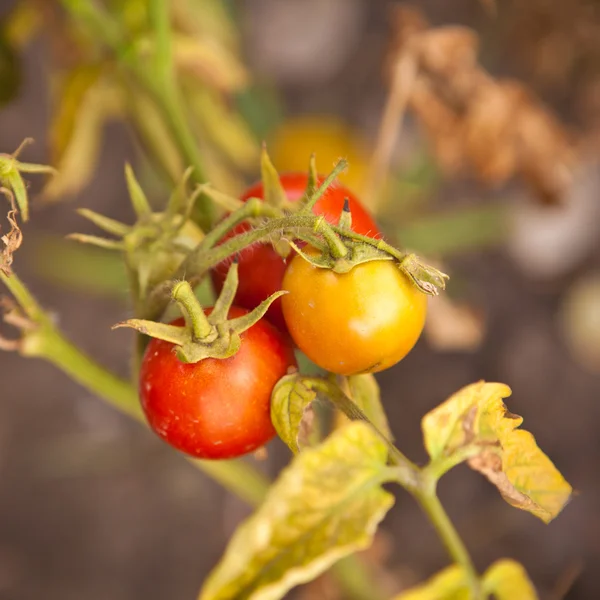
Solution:
{"label": "red tomato at the back, partly hidden behind the fuzzy stems", "polygon": [[[285,173],[280,176],[280,179],[288,200],[297,202],[302,198],[308,183],[308,175],[306,173]],[[323,180],[324,177],[319,177],[319,185]],[[263,197],[263,185],[262,183],[257,183],[246,190],[241,199],[246,201],[248,198]],[[314,212],[324,215],[330,223],[337,224],[344,207],[345,198],[348,198],[350,201],[352,229],[357,233],[372,237],[380,235],[375,221],[373,221],[369,213],[363,208],[360,201],[350,190],[342,185],[334,183],[330,186],[327,192],[316,203]],[[250,226],[247,223],[242,223],[224,239],[243,233],[249,228]],[[217,265],[211,272],[212,282],[217,293],[223,287],[228,269],[229,264],[223,262]],[[275,252],[270,244],[257,244],[243,250],[239,256],[238,272],[240,283],[235,303],[248,309],[258,306],[271,294],[281,289],[285,269],[286,261]],[[281,299],[278,298],[271,305],[267,312],[267,318],[281,331],[287,330],[285,319],[281,312]]]}

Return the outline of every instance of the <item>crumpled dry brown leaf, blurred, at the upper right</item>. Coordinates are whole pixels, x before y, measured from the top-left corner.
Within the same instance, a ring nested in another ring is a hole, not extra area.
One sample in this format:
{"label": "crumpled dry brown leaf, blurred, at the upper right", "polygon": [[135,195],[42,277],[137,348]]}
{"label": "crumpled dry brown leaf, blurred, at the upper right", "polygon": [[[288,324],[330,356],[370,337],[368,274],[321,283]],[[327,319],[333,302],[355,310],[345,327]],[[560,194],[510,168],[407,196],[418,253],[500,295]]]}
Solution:
{"label": "crumpled dry brown leaf, blurred, at the upper right", "polygon": [[410,57],[417,77],[409,108],[441,167],[488,185],[520,177],[543,204],[562,202],[577,155],[566,128],[524,84],[494,79],[477,62],[467,27],[431,28],[415,8],[392,13],[388,66]]}

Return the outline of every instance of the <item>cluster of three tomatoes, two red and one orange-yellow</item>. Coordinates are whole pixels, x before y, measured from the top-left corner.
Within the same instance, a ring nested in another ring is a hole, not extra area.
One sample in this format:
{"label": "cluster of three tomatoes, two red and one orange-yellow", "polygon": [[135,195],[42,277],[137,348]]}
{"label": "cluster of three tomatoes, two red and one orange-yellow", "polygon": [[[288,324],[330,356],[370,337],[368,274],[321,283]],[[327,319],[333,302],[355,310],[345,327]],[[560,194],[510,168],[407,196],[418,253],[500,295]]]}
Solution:
{"label": "cluster of three tomatoes, two red and one orange-yellow", "polygon": [[[308,176],[282,175],[281,183],[288,200],[299,201]],[[257,184],[242,200],[263,194]],[[346,199],[352,229],[379,236],[368,212],[343,186],[330,186],[314,212],[337,224]],[[249,227],[243,223],[228,237]],[[150,426],[167,443],[199,458],[240,456],[275,435],[271,393],[296,368],[294,346],[327,371],[372,373],[406,356],[425,321],[426,296],[393,261],[367,262],[338,274],[299,255],[284,260],[270,244],[246,248],[238,260],[239,286],[229,318],[247,314],[278,290],[288,292],[241,335],[239,351],[186,364],[170,342],[152,339],[141,367],[140,397]],[[224,263],[213,270],[216,291],[227,271]]]}

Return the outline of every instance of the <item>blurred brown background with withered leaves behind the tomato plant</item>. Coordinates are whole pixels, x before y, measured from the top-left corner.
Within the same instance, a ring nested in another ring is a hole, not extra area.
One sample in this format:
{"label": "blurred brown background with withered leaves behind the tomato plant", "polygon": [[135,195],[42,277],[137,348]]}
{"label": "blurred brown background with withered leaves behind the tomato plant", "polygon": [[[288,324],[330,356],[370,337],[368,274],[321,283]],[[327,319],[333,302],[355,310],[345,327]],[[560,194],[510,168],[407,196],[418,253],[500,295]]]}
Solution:
{"label": "blurred brown background with withered leaves behind the tomato plant", "polygon": [[[143,3],[105,4],[136,31]],[[477,566],[513,557],[541,598],[599,598],[600,3],[173,5],[216,186],[257,178],[262,139],[280,170],[306,168],[313,151],[321,171],[345,156],[345,183],[390,238],[451,274],[416,349],[378,376],[398,446],[423,461],[425,412],[501,381],[578,490],[545,526],[468,468],[451,472],[440,495]],[[158,203],[176,159],[53,2],[0,10],[0,150],[33,137],[23,159],[61,172],[31,187],[16,269],[74,341],[126,376],[125,334],[110,331],[129,314],[123,274],[63,238],[95,233],[76,207],[132,220],[125,161]],[[386,144],[389,173],[373,177]],[[0,382],[0,598],[194,598],[249,509],[48,364],[2,353]],[[288,460],[273,443],[259,466],[274,476]],[[366,560],[390,594],[447,564],[401,491]],[[344,598],[327,577],[290,597]]]}

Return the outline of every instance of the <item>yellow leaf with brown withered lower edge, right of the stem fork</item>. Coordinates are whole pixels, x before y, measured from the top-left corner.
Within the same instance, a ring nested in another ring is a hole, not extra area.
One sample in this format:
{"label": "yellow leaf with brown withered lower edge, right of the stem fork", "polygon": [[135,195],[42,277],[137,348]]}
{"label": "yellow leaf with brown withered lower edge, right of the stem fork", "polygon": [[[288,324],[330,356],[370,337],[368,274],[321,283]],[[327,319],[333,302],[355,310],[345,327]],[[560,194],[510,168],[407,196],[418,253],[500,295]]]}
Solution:
{"label": "yellow leaf with brown withered lower edge, right of the stem fork", "polygon": [[512,506],[545,523],[569,501],[572,488],[528,431],[508,412],[501,383],[469,385],[425,415],[422,421],[428,467],[443,473],[462,460],[485,475]]}

